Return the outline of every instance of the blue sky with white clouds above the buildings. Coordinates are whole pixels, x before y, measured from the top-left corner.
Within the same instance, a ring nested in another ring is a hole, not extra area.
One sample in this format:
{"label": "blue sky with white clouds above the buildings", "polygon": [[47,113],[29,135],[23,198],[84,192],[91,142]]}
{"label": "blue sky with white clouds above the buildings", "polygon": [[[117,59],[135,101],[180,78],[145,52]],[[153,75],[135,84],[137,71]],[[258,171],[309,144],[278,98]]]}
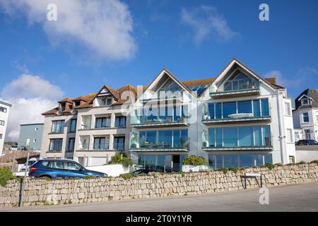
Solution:
{"label": "blue sky with white clouds above the buildings", "polygon": [[[264,3],[268,21],[259,20]],[[57,20],[47,20],[48,4]],[[297,97],[318,89],[317,28],[315,0],[0,0],[6,140],[57,100],[148,85],[163,68],[182,81],[211,78],[237,58]]]}

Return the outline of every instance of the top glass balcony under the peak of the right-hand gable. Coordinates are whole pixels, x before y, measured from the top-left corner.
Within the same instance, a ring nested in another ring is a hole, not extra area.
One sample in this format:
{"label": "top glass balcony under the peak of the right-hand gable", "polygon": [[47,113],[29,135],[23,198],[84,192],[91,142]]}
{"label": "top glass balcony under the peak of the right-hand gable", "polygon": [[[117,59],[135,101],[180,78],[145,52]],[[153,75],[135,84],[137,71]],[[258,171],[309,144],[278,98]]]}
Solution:
{"label": "top glass balcony under the peak of the right-hand gable", "polygon": [[213,98],[242,97],[259,94],[259,81],[252,79],[225,81],[223,90],[213,90],[212,87],[210,88],[210,96]]}

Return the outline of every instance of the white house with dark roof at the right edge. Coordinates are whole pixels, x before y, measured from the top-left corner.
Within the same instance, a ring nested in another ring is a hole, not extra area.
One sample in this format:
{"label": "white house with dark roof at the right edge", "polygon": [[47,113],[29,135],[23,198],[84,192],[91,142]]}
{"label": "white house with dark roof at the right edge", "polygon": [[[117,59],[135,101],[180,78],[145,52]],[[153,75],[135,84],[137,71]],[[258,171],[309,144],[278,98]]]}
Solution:
{"label": "white house with dark roof at the right edge", "polygon": [[318,141],[318,91],[304,90],[295,99],[294,127],[302,129],[305,139]]}

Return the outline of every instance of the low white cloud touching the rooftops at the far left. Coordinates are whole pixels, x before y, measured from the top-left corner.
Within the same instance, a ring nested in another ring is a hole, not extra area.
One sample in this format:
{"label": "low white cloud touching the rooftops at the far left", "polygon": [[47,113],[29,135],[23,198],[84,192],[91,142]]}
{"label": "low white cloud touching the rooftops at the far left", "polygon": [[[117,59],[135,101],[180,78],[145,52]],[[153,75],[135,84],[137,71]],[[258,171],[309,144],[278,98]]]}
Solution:
{"label": "low white cloud touching the rooftops at the far left", "polygon": [[10,110],[6,140],[18,141],[20,124],[41,123],[43,112],[57,107],[64,93],[56,85],[39,76],[21,75],[5,85],[0,100],[13,105]]}

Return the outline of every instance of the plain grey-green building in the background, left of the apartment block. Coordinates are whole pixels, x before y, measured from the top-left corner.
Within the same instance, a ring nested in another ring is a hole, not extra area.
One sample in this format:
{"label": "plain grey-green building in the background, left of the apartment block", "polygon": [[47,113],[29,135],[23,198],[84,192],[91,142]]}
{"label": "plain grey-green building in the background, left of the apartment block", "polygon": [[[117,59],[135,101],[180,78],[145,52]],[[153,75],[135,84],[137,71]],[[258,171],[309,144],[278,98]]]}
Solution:
{"label": "plain grey-green building in the background, left of the apartment block", "polygon": [[21,124],[18,150],[41,150],[44,124]]}

